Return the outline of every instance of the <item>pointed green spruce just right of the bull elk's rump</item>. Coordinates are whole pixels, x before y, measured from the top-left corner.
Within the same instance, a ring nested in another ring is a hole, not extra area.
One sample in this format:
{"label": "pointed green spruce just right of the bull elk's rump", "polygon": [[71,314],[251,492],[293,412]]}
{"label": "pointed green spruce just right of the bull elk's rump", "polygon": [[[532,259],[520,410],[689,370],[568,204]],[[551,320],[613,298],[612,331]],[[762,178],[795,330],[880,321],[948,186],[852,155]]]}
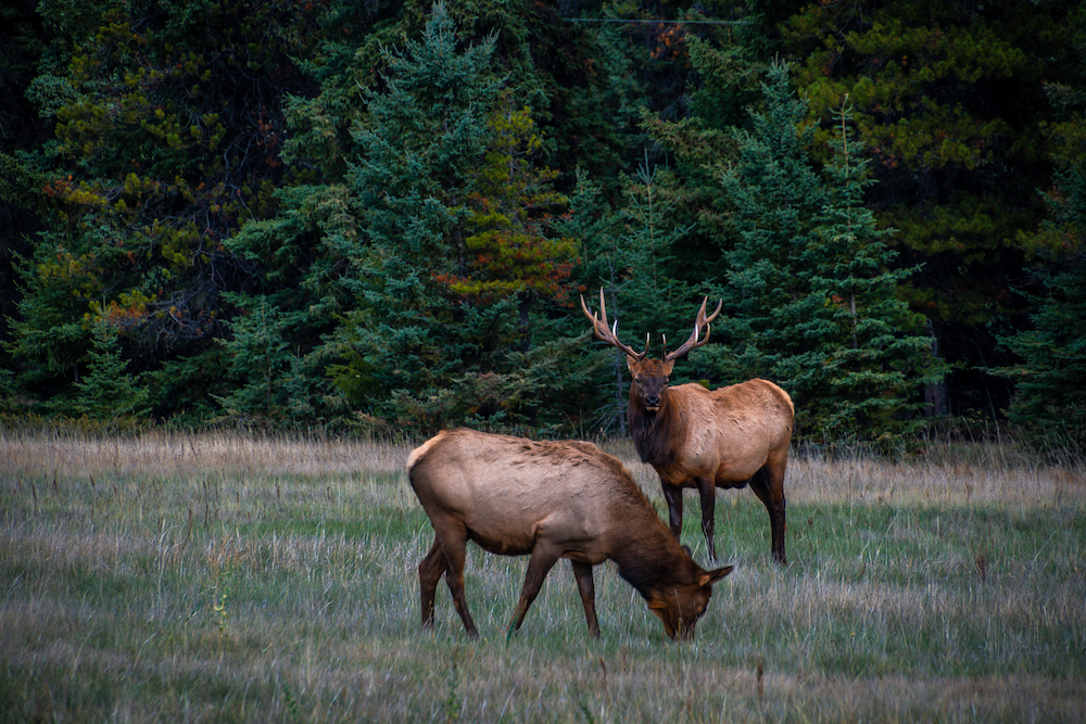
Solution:
{"label": "pointed green spruce just right of the bull elk's rump", "polygon": [[810,289],[795,327],[800,344],[817,353],[793,361],[793,380],[820,392],[810,423],[824,436],[896,444],[922,420],[919,385],[944,370],[931,359],[923,318],[897,295],[917,269],[894,266],[894,230],[879,229],[863,205],[873,181],[849,109],[836,119],[824,174],[829,203],[818,218],[820,243],[803,257]]}

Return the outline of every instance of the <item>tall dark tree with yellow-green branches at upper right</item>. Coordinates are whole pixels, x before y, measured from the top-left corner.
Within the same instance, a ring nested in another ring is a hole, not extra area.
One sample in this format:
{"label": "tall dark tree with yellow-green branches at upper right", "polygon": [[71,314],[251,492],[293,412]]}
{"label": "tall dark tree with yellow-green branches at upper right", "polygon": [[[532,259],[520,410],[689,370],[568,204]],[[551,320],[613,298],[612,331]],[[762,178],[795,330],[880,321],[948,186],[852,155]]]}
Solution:
{"label": "tall dark tree with yellow-green branches at upper right", "polygon": [[1037,227],[1051,173],[1043,87],[1081,82],[1079,5],[813,3],[784,26],[812,118],[854,103],[880,180],[867,203],[899,230],[902,258],[923,264],[904,290],[954,364],[959,411],[1006,402],[984,370],[1010,361],[993,330],[1025,322],[1015,240]]}

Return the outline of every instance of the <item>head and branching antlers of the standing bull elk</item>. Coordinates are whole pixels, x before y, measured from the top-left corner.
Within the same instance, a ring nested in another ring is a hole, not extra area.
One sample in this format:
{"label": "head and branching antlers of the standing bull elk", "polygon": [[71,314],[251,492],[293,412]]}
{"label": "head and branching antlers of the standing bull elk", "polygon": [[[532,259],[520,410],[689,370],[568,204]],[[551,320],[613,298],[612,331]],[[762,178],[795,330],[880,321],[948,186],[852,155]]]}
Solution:
{"label": "head and branching antlers of the standing bull elk", "polygon": [[[671,377],[671,369],[674,367],[674,360],[709,341],[709,322],[720,314],[723,300],[718,302],[716,310],[706,317],[705,306],[708,301],[709,297],[702,300],[702,308],[697,312],[697,317],[694,320],[694,331],[691,332],[690,339],[675,350],[668,352],[668,338],[664,335],[664,356],[660,359],[646,359],[648,356],[649,336],[645,338],[645,351],[635,352],[632,347],[619,341],[617,320],[608,327],[607,307],[604,305],[604,290],[599,290],[598,317],[589,312],[589,307],[584,304],[584,297],[581,297],[581,310],[592,321],[592,330],[596,333],[596,336],[616,350],[626,353],[627,366],[630,368],[630,374],[633,378],[633,382],[630,385],[631,414],[635,405],[645,412],[655,414],[659,411],[667,396],[668,381]],[[703,330],[705,331],[705,336],[702,336]]]}

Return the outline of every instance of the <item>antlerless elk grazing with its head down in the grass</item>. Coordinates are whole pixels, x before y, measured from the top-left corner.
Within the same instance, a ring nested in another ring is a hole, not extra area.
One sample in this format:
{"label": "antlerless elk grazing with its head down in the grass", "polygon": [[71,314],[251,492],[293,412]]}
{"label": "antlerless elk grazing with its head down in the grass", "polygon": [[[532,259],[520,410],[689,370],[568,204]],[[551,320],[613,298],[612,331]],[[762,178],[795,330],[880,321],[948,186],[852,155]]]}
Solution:
{"label": "antlerless elk grazing with its head down in the grass", "polygon": [[559,558],[573,569],[594,637],[599,623],[593,566],[615,561],[671,638],[693,637],[712,584],[732,571],[698,567],[618,458],[592,443],[446,430],[412,452],[407,477],[434,532],[418,564],[424,630],[433,628],[434,595],[444,575],[467,635],[479,636],[464,597],[468,541],[493,554],[531,556],[508,637]]}

